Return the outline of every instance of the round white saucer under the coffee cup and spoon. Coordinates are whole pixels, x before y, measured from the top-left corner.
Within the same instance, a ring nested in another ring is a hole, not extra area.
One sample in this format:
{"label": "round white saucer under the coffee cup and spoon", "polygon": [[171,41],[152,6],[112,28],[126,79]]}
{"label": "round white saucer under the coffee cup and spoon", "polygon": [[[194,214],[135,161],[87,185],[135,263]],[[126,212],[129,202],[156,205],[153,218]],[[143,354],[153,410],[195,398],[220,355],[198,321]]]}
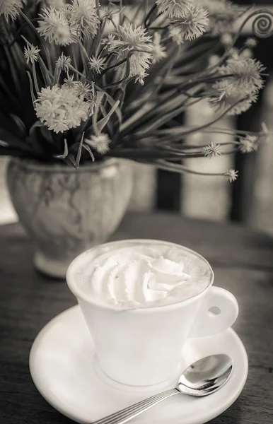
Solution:
{"label": "round white saucer under the coffee cup and spoon", "polygon": [[[219,416],[238,398],[248,375],[248,357],[240,338],[228,329],[216,336],[192,338],[182,351],[182,367],[212,353],[233,358],[233,373],[216,393],[202,398],[173,396],[134,419],[144,424],[203,424]],[[30,373],[42,396],[65,416],[91,423],[158,391],[173,387],[132,388],[115,384],[94,361],[94,346],[79,306],[57,315],[33,343]]]}

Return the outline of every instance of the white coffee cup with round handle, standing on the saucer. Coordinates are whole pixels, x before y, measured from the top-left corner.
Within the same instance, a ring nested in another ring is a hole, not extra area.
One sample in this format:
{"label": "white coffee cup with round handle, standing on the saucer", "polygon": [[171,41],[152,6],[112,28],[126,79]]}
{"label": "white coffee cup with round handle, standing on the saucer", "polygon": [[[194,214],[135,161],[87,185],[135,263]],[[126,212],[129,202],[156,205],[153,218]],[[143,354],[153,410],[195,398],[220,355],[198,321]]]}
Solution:
{"label": "white coffee cup with round handle, standing on the saucer", "polygon": [[[98,305],[77,284],[83,259],[94,257],[101,247],[121,247],[122,243],[164,243],[195,254],[211,271],[211,282],[202,293],[182,302],[132,310],[115,310]],[[120,384],[149,386],[161,384],[175,375],[187,338],[204,337],[228,329],[238,317],[236,298],[223,288],[212,286],[214,273],[201,255],[187,247],[159,240],[120,240],[83,252],[69,265],[69,289],[76,296],[91,332],[101,369]],[[209,311],[219,308],[219,314]]]}

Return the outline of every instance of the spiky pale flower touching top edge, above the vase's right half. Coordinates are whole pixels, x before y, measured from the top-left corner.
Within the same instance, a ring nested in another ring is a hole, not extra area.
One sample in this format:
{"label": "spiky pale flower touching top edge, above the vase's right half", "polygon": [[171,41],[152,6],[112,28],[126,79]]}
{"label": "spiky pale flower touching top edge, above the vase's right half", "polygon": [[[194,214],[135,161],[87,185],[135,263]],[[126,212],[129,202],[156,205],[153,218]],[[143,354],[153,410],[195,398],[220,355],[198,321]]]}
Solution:
{"label": "spiky pale flower touching top edge, above the vase's right half", "polygon": [[98,32],[98,12],[95,0],[73,0],[70,12],[69,23],[86,37],[90,38]]}

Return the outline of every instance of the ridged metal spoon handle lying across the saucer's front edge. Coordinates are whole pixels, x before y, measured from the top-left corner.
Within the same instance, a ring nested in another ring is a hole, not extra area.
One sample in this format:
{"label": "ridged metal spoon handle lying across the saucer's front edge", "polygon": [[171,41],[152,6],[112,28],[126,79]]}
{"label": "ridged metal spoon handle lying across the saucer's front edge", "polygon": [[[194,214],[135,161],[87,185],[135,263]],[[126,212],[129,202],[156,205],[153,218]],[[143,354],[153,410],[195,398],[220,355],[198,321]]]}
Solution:
{"label": "ridged metal spoon handle lying across the saucer's front edge", "polygon": [[166,391],[162,391],[161,393],[155,394],[144,401],[137,402],[127,408],[122,409],[121,411],[115,412],[106,416],[105,418],[101,418],[100,420],[94,421],[92,424],[124,424],[127,421],[132,420],[139,414],[147,411],[153,406],[159,404],[159,402],[168,399],[168,397],[173,396],[174,394],[178,394],[180,391],[178,389],[169,389]]}

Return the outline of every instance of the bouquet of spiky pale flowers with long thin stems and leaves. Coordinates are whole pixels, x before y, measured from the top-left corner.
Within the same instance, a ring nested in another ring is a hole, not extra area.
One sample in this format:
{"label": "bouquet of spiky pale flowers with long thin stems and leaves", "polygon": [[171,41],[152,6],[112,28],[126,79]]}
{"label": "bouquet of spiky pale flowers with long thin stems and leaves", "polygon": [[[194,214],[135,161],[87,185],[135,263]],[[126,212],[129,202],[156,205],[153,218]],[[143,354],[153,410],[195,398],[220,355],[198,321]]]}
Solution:
{"label": "bouquet of spiky pale flowers with long thin stems and leaves", "polygon": [[[249,21],[254,37],[238,49]],[[252,48],[271,34],[271,12],[229,0],[139,0],[134,7],[0,0],[0,153],[76,168],[117,157],[193,172],[185,159],[255,151],[267,138],[265,124],[257,133],[211,125],[256,102],[265,68]],[[181,124],[204,99],[214,119]],[[233,134],[231,150],[187,143],[200,131]],[[234,181],[238,172],[221,175]]]}

